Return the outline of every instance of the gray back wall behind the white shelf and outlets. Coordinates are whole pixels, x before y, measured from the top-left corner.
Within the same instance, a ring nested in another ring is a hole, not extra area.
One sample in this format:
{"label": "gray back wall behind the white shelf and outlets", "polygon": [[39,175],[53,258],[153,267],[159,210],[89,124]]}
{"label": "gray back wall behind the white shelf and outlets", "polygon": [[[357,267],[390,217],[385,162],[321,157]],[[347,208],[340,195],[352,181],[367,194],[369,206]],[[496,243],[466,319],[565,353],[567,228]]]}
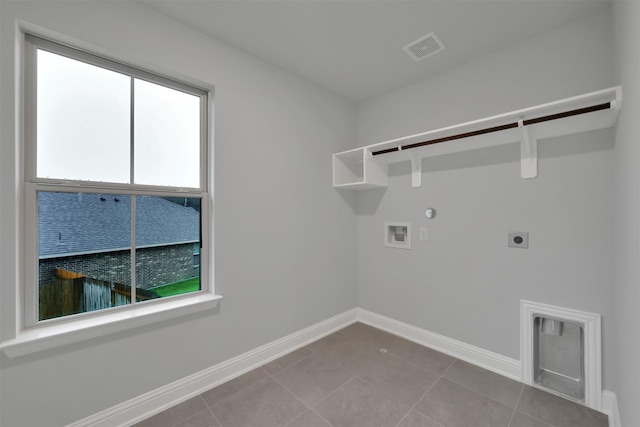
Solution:
{"label": "gray back wall behind the white shelf and outlets", "polygon": [[[613,86],[611,46],[606,9],[360,105],[358,143]],[[426,159],[420,189],[392,165],[387,189],[358,194],[359,306],[514,359],[521,299],[600,313],[610,387],[613,147],[612,129],[541,140],[533,180],[519,144]],[[385,221],[413,224],[411,251],[383,247]],[[508,231],[528,231],[529,249],[507,248]]]}

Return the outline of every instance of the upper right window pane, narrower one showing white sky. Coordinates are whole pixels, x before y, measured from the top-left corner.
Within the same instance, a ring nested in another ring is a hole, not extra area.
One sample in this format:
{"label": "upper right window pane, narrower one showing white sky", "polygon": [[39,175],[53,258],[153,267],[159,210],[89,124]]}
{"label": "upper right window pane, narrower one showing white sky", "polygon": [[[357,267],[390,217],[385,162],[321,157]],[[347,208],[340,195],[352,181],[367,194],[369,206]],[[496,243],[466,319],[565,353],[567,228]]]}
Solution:
{"label": "upper right window pane, narrower one showing white sky", "polygon": [[200,98],[144,80],[134,88],[136,184],[200,187]]}

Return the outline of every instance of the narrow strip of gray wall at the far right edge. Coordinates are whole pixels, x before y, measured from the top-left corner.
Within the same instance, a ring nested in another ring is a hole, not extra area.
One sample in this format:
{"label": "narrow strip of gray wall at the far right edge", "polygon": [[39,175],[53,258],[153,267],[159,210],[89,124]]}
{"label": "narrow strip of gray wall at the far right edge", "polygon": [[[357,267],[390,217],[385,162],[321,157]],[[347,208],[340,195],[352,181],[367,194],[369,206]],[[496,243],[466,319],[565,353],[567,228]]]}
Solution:
{"label": "narrow strip of gray wall at the far right edge", "polygon": [[640,3],[615,1],[616,80],[624,87],[616,133],[615,388],[622,425],[640,425]]}

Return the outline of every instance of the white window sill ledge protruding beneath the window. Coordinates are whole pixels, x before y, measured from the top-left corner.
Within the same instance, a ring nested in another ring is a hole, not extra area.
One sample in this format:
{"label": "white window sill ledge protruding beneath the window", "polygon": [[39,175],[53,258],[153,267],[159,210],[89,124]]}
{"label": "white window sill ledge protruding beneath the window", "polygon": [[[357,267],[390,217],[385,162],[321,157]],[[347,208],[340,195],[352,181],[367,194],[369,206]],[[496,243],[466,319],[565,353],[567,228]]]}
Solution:
{"label": "white window sill ledge protruding beneath the window", "polygon": [[14,339],[0,343],[8,357],[14,358],[61,347],[135,328],[186,314],[215,308],[222,296],[199,294],[175,298],[156,304],[142,305],[132,310],[117,311],[95,317],[25,329]]}

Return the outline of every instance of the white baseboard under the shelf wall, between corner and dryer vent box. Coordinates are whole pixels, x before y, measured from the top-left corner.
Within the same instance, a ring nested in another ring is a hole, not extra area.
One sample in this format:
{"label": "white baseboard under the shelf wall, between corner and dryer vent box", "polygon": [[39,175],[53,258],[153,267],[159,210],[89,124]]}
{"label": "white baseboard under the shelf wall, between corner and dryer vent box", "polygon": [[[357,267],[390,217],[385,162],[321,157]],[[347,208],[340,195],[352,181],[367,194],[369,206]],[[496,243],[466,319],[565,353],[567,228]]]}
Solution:
{"label": "white baseboard under the shelf wall, between corner and dryer vent box", "polygon": [[425,347],[464,360],[505,377],[520,381],[520,361],[493,353],[462,341],[420,329],[416,326],[357,308],[358,320],[383,331],[399,335]]}

